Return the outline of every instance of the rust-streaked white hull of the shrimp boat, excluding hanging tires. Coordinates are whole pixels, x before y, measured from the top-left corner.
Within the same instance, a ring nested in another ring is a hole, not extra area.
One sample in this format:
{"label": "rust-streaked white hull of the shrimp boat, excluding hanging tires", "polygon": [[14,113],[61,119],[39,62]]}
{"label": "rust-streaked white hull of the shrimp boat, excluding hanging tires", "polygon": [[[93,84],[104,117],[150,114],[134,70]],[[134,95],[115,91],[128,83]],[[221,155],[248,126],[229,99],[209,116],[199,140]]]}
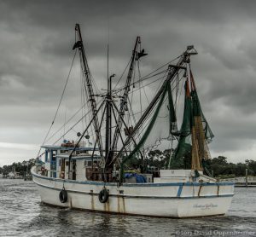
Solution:
{"label": "rust-streaked white hull of the shrimp boat, excluding hanging tires", "polygon": [[[49,205],[155,217],[202,217],[224,215],[234,195],[232,182],[106,183],[108,202],[98,194],[103,182],[79,182],[40,176],[32,171],[42,202]],[[61,203],[61,189],[67,202]]]}

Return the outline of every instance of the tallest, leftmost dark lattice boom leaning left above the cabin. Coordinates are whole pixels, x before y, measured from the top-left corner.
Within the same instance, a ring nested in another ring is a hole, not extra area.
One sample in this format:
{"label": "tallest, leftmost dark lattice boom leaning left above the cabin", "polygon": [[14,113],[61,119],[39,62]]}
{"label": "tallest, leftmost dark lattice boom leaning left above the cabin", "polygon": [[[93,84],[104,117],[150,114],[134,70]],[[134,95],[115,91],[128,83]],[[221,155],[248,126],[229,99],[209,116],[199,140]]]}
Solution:
{"label": "tallest, leftmost dark lattice boom leaning left above the cabin", "polygon": [[88,101],[90,101],[90,109],[91,109],[91,113],[92,113],[92,118],[94,118],[93,119],[93,125],[94,125],[94,129],[96,131],[96,141],[98,143],[99,151],[100,151],[100,154],[101,154],[101,157],[102,157],[103,156],[103,153],[102,153],[102,136],[101,136],[101,130],[100,130],[100,126],[99,126],[98,116],[97,116],[97,113],[96,113],[97,112],[96,99],[95,99],[95,95],[94,95],[94,91],[93,91],[93,87],[92,87],[90,69],[89,69],[88,62],[87,62],[87,59],[86,59],[86,56],[85,56],[84,43],[83,43],[83,39],[82,39],[79,24],[76,24],[75,31],[77,32],[78,40],[73,45],[73,49],[79,48],[79,56],[80,56],[80,60],[82,62],[81,66],[82,66],[82,69],[83,69],[83,72],[84,72],[84,78],[85,78],[84,88],[85,88],[85,90],[87,88],[86,91],[87,91],[87,94],[88,94]]}

